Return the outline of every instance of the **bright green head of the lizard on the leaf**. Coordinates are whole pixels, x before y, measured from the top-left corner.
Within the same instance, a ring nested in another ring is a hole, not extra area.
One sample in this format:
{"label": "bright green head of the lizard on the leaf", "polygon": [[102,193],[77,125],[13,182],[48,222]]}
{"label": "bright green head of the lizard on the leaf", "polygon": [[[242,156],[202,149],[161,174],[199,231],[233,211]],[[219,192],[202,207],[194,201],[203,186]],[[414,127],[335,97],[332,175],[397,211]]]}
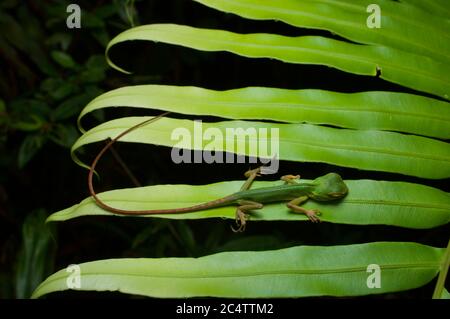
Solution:
{"label": "bright green head of the lizard on the leaf", "polygon": [[347,185],[345,185],[342,177],[336,173],[329,173],[318,177],[313,183],[316,184],[316,187],[309,194],[309,197],[317,201],[339,199],[348,193]]}

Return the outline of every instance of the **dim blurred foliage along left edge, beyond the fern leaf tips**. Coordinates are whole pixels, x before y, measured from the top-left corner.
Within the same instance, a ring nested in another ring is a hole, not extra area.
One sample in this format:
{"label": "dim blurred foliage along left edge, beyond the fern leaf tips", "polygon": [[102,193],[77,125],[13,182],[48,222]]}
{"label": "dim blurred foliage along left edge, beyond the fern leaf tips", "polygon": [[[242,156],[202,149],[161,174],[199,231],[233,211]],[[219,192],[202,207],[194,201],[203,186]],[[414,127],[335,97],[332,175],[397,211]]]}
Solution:
{"label": "dim blurred foliage along left edge, beyond the fern leaf tips", "polygon": [[[45,187],[24,170],[38,154],[58,148],[70,163],[78,113],[120,85],[105,80],[105,45],[138,21],[134,1],[79,1],[82,29],[68,29],[70,3],[0,1],[0,298],[28,298],[53,270],[54,239],[44,225],[51,211],[30,203],[27,188]],[[36,164],[51,174],[52,165]],[[28,200],[17,201],[16,188]]]}

